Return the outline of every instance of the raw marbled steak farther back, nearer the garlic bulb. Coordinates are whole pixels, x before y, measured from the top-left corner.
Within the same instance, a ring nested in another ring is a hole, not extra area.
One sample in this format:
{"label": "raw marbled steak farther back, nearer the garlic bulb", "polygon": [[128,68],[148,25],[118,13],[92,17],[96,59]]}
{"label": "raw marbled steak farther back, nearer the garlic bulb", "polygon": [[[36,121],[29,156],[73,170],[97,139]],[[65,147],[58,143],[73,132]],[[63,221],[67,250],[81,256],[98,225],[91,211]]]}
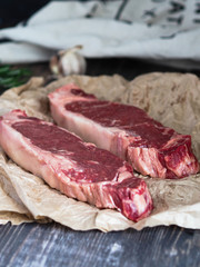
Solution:
{"label": "raw marbled steak farther back, nearer the garlic bulb", "polygon": [[163,127],[137,107],[100,101],[74,85],[57,89],[49,99],[59,126],[128,160],[142,175],[182,178],[199,170],[191,137]]}

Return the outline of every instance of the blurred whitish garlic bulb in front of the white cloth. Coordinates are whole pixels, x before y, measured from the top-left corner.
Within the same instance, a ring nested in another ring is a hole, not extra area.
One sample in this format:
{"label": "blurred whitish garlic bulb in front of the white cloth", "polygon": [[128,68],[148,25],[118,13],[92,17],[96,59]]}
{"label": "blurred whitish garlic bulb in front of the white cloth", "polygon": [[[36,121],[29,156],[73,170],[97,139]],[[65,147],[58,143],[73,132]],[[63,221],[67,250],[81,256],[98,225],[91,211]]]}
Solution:
{"label": "blurred whitish garlic bulb in front of the white cloth", "polygon": [[86,59],[78,52],[82,46],[76,46],[68,50],[61,50],[50,60],[50,69],[56,76],[83,75],[86,72]]}

